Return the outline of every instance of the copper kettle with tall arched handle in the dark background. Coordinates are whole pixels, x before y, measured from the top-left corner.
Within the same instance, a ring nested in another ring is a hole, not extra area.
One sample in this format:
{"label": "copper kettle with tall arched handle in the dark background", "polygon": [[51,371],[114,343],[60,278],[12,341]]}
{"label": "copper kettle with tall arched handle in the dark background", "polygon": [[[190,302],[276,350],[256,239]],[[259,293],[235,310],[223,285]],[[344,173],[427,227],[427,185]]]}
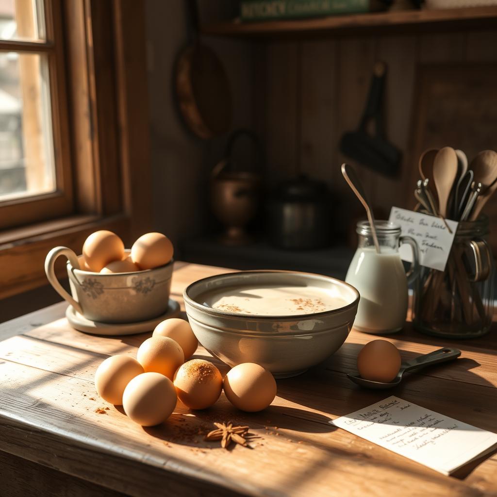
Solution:
{"label": "copper kettle with tall arched handle in the dark background", "polygon": [[225,225],[220,242],[225,245],[244,245],[251,242],[245,226],[254,218],[259,205],[261,178],[258,164],[252,171],[234,169],[232,150],[241,136],[248,136],[260,161],[260,144],[255,134],[238,130],[228,140],[225,158],[214,166],[211,174],[211,207],[214,215]]}

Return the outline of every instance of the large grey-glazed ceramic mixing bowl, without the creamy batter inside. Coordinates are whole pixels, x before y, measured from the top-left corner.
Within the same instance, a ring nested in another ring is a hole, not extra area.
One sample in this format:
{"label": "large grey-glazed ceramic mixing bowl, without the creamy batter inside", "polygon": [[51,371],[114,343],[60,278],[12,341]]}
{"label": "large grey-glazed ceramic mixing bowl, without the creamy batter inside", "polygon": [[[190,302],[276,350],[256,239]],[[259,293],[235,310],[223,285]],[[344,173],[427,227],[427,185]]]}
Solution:
{"label": "large grey-glazed ceramic mixing bowl, without the creamy batter inside", "polygon": [[[340,308],[313,314],[260,316],[215,309],[205,302],[210,291],[229,292],[257,285],[320,287],[344,301]],[[359,292],[343,281],[292,271],[244,271],[198,280],[183,294],[186,314],[199,342],[229,366],[255,362],[285,378],[303,373],[333,354],[348,336]]]}

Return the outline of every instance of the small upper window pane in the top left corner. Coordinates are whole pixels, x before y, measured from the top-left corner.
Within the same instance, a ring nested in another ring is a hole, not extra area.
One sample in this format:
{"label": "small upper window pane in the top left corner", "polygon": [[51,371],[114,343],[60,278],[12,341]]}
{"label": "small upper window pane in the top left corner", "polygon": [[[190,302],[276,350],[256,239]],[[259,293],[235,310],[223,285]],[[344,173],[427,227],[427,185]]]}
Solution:
{"label": "small upper window pane in the top left corner", "polygon": [[0,40],[45,40],[43,0],[0,0]]}

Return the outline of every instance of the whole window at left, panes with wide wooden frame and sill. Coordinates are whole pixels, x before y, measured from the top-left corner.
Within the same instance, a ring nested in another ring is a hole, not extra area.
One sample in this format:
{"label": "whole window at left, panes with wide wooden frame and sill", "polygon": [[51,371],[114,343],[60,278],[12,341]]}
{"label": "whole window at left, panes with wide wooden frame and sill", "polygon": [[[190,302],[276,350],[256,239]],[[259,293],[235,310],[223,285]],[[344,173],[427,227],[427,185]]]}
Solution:
{"label": "whole window at left, panes with wide wooden frame and sill", "polygon": [[144,8],[0,0],[0,298],[46,285],[50,248],[151,229]]}

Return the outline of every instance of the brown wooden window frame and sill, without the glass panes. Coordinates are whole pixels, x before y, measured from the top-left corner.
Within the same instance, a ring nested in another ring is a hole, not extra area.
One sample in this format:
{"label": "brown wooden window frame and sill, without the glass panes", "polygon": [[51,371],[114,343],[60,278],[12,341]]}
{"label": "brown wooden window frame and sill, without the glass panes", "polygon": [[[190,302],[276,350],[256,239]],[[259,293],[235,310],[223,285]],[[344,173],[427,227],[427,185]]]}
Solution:
{"label": "brown wooden window frame and sill, without the glass panes", "polygon": [[129,246],[152,226],[144,2],[49,1],[61,6],[74,210],[0,231],[0,298],[46,284],[50,248],[80,253],[98,229]]}

